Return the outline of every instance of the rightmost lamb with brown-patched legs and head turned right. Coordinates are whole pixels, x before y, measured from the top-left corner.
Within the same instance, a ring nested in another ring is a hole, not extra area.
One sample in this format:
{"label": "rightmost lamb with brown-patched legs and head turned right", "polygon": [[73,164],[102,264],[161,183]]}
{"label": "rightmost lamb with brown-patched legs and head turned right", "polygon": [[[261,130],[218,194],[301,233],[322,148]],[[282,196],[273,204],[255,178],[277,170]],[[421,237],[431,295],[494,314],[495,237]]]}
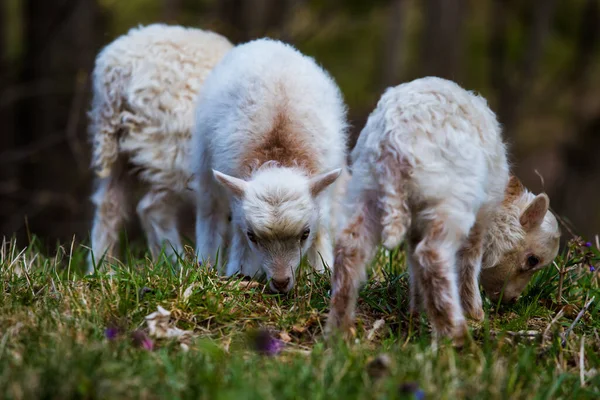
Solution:
{"label": "rightmost lamb with brown-patched legs and head turned right", "polygon": [[466,333],[463,313],[484,317],[482,265],[486,292],[494,298],[508,278],[504,296],[514,298],[557,255],[560,231],[548,197],[509,177],[494,113],[454,82],[426,77],[389,88],[351,158],[328,334],[352,325],[380,242],[393,249],[406,237],[411,312],[424,306],[434,337],[457,344]]}

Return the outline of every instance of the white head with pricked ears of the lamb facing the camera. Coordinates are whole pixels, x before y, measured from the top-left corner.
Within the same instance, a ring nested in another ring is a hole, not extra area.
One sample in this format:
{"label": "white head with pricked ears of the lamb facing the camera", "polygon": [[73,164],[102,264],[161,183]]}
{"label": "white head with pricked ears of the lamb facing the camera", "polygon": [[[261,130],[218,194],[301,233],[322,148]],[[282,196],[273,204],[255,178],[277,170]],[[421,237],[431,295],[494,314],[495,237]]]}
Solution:
{"label": "white head with pricked ears of the lamb facing the camera", "polygon": [[266,275],[271,290],[288,292],[302,257],[319,230],[319,194],[339,176],[334,170],[313,178],[302,171],[273,167],[249,181],[215,171],[233,196],[234,235],[251,256],[240,260],[246,275]]}

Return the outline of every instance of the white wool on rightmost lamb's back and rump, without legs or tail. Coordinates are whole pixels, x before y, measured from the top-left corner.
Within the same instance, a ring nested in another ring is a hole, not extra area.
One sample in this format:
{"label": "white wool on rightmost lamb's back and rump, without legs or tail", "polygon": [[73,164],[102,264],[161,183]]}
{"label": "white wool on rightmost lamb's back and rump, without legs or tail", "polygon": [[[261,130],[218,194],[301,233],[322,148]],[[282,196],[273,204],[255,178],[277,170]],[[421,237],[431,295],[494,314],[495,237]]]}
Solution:
{"label": "white wool on rightmost lamb's back and rump, without legs or tail", "polygon": [[372,175],[386,167],[376,162],[382,143],[410,165],[410,202],[436,206],[420,212],[427,219],[451,213],[464,234],[482,204],[504,197],[500,127],[485,99],[454,82],[422,78],[385,92],[352,152],[352,175],[361,182],[353,191],[377,189]]}

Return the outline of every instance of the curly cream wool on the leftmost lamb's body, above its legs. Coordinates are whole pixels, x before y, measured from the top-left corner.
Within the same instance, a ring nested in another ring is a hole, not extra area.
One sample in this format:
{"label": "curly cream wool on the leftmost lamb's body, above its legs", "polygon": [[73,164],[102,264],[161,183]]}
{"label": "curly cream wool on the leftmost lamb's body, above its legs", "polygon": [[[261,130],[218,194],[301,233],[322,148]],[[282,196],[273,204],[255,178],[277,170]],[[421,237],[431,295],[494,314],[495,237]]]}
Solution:
{"label": "curly cream wool on the leftmost lamb's body, above its legs", "polygon": [[219,34],[164,24],[133,28],[106,46],[96,58],[89,113],[98,176],[124,154],[143,181],[181,190],[196,98],[231,48]]}

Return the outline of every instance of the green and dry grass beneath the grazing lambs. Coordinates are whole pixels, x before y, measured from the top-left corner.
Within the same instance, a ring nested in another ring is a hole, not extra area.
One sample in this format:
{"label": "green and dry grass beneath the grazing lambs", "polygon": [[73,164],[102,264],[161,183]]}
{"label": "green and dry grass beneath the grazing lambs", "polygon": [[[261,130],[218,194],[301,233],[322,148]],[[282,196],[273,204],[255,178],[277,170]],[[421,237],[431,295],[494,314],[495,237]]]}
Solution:
{"label": "green and dry grass beneath the grazing lambs", "polygon": [[[462,349],[432,345],[427,321],[410,321],[402,251],[380,253],[352,343],[324,341],[329,281],[306,267],[293,293],[279,296],[187,260],[177,271],[127,253],[112,275],[85,276],[83,247],[48,258],[35,240],[3,243],[0,397],[408,399],[415,387],[436,399],[600,396],[599,277],[589,271],[600,253],[576,241],[516,304],[485,300],[486,320],[471,324]],[[176,339],[153,339],[151,351],[131,339],[147,333],[145,316],[159,305],[193,330],[188,351]],[[281,353],[253,348],[249,333],[259,328],[287,341]]]}

